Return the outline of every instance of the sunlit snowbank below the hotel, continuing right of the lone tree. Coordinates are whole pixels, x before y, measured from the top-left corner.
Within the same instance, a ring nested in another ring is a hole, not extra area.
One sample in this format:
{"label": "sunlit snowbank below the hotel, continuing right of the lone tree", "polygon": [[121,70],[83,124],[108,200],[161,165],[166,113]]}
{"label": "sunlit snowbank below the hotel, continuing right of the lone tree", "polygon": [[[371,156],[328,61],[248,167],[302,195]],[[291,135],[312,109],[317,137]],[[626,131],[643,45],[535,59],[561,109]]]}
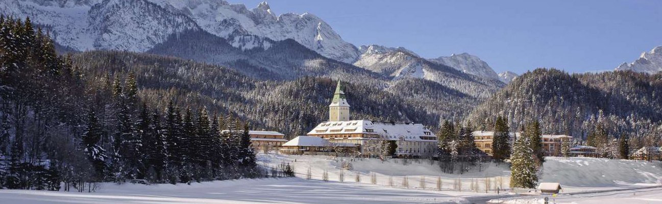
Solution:
{"label": "sunlit snowbank below the hotel, continuing right of the lone tree", "polygon": [[[338,180],[340,162],[331,156],[290,156],[281,154],[260,154],[258,162],[266,166],[289,163],[294,166],[297,176],[305,178],[310,168],[312,179],[322,179],[322,172],[329,174],[329,179]],[[442,178],[443,189],[453,189],[453,182],[461,180],[463,191],[471,189],[471,183],[478,183],[477,191],[485,192],[485,181],[490,184],[488,193],[495,193],[496,187],[508,189],[510,170],[504,164],[487,163],[482,171],[473,170],[464,174],[444,174],[437,164],[427,160],[387,160],[355,159],[351,172],[344,171],[344,181],[354,181],[358,172],[362,183],[371,183],[374,172],[377,185],[389,185],[393,178],[395,185],[401,185],[404,176],[408,177],[410,187],[420,186],[424,176],[425,187],[436,187],[436,180]],[[413,162],[412,162],[413,161]],[[541,182],[558,182],[563,192],[594,191],[604,189],[622,189],[649,185],[662,185],[662,163],[634,160],[609,160],[604,158],[561,158],[547,157],[542,170]],[[496,186],[495,186],[496,185]],[[457,189],[456,189],[457,190]]]}

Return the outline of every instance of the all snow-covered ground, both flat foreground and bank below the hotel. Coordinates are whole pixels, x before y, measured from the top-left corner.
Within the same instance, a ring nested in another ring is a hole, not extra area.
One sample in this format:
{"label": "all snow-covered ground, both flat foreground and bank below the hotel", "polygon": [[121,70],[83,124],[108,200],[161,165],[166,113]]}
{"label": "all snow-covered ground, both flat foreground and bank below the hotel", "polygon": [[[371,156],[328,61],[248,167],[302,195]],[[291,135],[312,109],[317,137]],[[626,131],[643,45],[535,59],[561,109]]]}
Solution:
{"label": "all snow-covered ground, both flat foreground and bank below the hotel", "polygon": [[[496,199],[504,194],[500,191],[501,195],[496,195],[496,187],[508,189],[510,172],[503,164],[485,164],[480,172],[457,175],[443,174],[436,164],[427,160],[404,162],[355,159],[351,161],[352,170],[341,171],[341,162],[330,156],[259,154],[258,164],[289,163],[295,168],[297,178],[239,179],[191,185],[103,183],[94,193],[0,190],[0,203],[485,203],[490,199],[496,203],[542,203],[542,196]],[[322,180],[324,172],[329,181]],[[341,172],[342,182],[338,181]],[[306,179],[308,175],[310,179]],[[442,190],[437,188],[438,179],[442,179]],[[659,185],[661,179],[660,162],[597,158],[547,158],[542,173],[542,181],[560,182],[564,193]],[[487,192],[486,181],[489,183]],[[553,197],[553,201],[662,203],[662,188],[562,194]]]}

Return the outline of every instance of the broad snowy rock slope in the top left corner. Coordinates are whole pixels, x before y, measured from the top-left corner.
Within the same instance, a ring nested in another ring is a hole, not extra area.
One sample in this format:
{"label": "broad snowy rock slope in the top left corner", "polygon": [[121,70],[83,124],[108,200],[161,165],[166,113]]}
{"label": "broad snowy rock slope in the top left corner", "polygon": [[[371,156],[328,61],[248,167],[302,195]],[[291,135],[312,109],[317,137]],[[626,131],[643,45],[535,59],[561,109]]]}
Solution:
{"label": "broad snowy rock slope in the top left corner", "polygon": [[1,1],[0,10],[31,17],[63,46],[77,50],[144,52],[170,34],[195,30],[185,16],[142,0]]}

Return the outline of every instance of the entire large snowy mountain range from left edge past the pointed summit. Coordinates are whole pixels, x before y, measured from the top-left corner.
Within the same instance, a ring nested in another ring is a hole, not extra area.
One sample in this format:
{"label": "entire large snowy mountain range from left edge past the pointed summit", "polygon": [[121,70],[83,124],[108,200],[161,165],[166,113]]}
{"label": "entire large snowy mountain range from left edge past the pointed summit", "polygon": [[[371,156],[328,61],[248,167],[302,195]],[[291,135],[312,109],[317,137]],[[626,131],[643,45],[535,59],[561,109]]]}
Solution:
{"label": "entire large snowy mountain range from left edge past the pointed summit", "polygon": [[203,29],[250,50],[291,38],[322,56],[354,62],[358,49],[309,13],[276,16],[269,5],[254,9],[218,0],[5,0],[5,15],[31,17],[63,46],[77,50],[144,52],[183,30]]}

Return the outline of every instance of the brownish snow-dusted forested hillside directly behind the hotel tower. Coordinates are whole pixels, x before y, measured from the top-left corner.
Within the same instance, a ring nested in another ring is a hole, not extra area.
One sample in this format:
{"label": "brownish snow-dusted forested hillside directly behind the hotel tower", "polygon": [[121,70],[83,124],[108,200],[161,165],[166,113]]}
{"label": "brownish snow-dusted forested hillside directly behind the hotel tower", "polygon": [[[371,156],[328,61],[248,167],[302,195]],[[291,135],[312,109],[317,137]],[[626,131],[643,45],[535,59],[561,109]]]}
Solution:
{"label": "brownish snow-dusted forested hillside directly behind the hotel tower", "polygon": [[[89,77],[87,82],[97,86],[113,76],[135,73],[138,95],[158,109],[164,109],[170,100],[179,105],[205,106],[211,113],[236,115],[255,128],[288,136],[305,134],[328,119],[328,104],[336,85],[326,77],[260,81],[229,68],[132,52],[82,52],[72,59]],[[344,83],[353,119],[415,121],[434,128],[440,118],[461,118],[470,109],[463,104],[476,101],[423,79],[403,79],[388,89]],[[446,105],[438,105],[446,100]]]}

